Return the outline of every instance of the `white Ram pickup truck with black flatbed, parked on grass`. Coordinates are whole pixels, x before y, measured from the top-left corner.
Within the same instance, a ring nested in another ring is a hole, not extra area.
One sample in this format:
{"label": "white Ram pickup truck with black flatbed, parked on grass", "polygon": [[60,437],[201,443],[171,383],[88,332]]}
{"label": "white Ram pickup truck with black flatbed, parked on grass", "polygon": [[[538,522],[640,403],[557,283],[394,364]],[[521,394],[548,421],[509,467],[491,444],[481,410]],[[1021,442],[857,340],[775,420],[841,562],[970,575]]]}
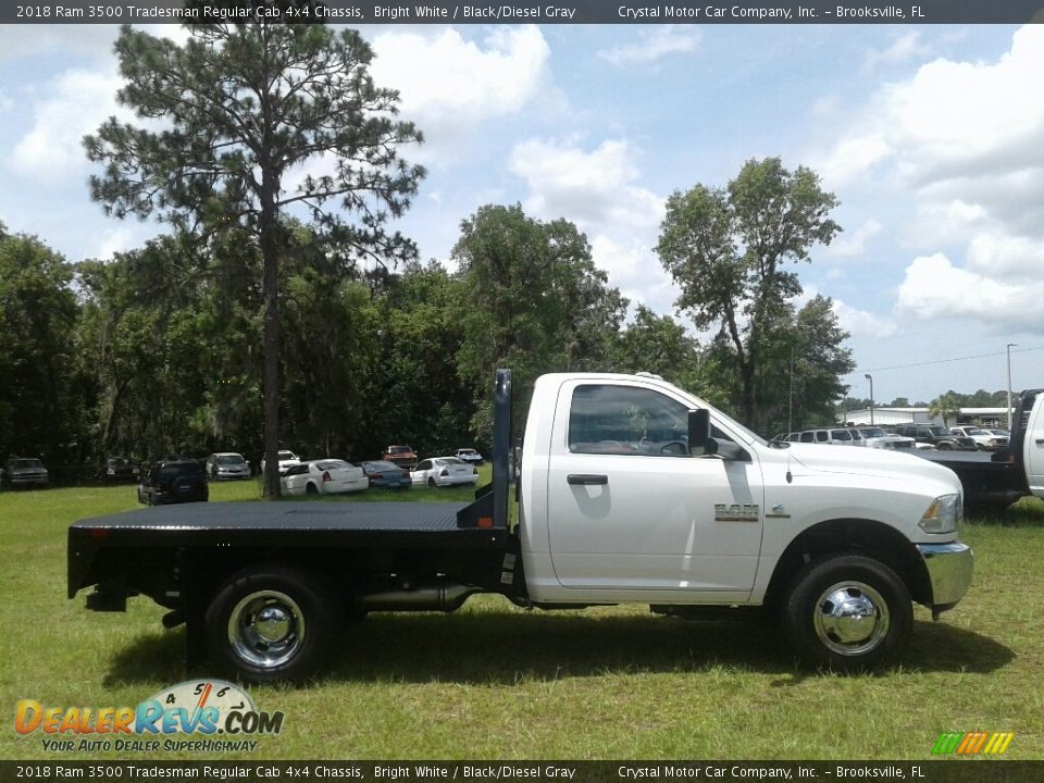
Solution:
{"label": "white Ram pickup truck with black flatbed, parked on grass", "polygon": [[968,589],[961,488],[917,457],[767,442],[649,375],[552,374],[533,390],[509,513],[511,382],[495,388],[493,483],[470,505],[190,504],[83,520],[69,594],[145,594],[188,623],[189,660],[297,679],[369,611],[452,611],[475,593],[538,609],[646,604],[778,614],[806,663],[877,667],[911,601]]}

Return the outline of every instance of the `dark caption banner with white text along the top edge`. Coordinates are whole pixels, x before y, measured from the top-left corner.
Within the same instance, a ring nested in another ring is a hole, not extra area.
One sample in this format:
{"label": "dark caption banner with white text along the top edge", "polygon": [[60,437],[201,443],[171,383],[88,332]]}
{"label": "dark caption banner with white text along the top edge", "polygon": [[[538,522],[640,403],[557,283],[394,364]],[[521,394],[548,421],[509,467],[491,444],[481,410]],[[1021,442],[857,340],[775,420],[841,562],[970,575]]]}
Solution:
{"label": "dark caption banner with white text along the top edge", "polygon": [[[295,8],[289,8],[295,7]],[[2,24],[221,22],[361,24],[1044,24],[1044,0],[38,0],[4,2]]]}

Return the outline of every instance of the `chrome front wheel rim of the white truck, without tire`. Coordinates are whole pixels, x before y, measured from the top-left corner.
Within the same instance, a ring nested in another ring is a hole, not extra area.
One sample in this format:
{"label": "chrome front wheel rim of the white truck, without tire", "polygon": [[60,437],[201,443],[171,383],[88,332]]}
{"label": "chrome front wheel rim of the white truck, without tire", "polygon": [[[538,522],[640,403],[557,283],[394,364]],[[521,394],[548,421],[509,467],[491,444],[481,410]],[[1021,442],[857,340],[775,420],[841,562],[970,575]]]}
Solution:
{"label": "chrome front wheel rim of the white truck, without tire", "polygon": [[862,582],[838,582],[816,601],[812,626],[826,649],[841,656],[860,656],[887,636],[887,601]]}

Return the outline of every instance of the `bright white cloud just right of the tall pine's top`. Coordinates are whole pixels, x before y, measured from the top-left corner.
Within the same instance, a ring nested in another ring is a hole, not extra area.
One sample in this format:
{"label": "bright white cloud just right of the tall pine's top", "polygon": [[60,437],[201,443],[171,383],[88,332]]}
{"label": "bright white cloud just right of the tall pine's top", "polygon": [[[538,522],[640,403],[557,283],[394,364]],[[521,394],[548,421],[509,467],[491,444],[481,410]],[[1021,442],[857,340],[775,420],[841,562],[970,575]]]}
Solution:
{"label": "bright white cloud just right of the tall pine's top", "polygon": [[[371,73],[378,86],[401,96],[401,116],[415,122],[435,145],[483,121],[510,116],[554,94],[550,48],[539,28],[504,27],[481,44],[458,28],[376,36]],[[446,137],[450,137],[447,139]]]}

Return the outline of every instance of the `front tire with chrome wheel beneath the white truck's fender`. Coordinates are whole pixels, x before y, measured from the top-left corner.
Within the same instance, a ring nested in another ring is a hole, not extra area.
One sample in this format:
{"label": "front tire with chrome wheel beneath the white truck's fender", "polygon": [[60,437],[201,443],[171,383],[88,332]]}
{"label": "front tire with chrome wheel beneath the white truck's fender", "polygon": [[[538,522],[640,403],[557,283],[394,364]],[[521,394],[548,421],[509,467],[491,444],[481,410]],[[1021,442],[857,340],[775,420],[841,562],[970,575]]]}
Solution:
{"label": "front tire with chrome wheel beneath the white truck's fender", "polygon": [[913,624],[903,580],[884,563],[856,555],[808,566],[791,583],[782,609],[798,657],[842,672],[883,666],[905,646]]}

